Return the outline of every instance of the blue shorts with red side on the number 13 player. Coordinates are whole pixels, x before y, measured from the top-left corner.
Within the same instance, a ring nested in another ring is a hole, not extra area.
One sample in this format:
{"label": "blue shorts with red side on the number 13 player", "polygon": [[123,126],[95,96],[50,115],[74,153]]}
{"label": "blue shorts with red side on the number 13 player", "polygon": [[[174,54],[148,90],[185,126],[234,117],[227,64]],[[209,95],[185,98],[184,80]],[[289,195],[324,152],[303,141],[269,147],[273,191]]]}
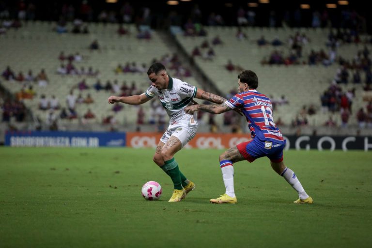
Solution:
{"label": "blue shorts with red side on the number 13 player", "polygon": [[283,161],[283,149],[285,147],[286,140],[283,143],[277,143],[272,141],[262,141],[259,139],[249,140],[238,144],[238,148],[241,155],[244,156],[249,162],[253,162],[259,157],[268,157],[271,162],[280,163]]}

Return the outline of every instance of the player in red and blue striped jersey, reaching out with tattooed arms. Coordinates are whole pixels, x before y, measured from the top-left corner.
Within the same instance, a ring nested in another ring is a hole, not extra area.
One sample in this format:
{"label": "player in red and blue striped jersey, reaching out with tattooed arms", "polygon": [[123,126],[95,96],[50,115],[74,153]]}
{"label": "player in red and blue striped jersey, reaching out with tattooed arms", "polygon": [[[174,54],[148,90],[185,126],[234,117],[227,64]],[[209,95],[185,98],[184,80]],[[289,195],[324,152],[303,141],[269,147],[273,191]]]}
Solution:
{"label": "player in red and blue striped jersey, reaching out with tattooed arms", "polygon": [[297,191],[299,199],[294,203],[312,203],[312,198],[305,192],[294,172],[283,162],[283,149],[286,140],[283,139],[279,128],[273,120],[273,106],[271,100],[259,93],[257,75],[245,70],[238,75],[238,92],[230,100],[220,105],[196,104],[186,107],[186,113],[203,110],[220,114],[230,110],[240,110],[246,117],[252,139],[230,148],[219,156],[223,182],[226,192],[212,203],[236,203],[234,191],[233,163],[248,160],[253,162],[260,157],[268,157],[271,167]]}

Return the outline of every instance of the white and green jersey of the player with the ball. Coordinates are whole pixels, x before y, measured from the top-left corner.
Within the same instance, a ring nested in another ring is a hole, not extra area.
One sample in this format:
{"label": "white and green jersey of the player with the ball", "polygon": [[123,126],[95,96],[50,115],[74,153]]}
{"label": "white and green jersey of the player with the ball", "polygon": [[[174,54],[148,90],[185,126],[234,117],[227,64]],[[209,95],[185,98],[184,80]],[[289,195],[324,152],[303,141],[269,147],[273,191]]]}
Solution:
{"label": "white and green jersey of the player with the ball", "polygon": [[186,114],[183,110],[191,105],[196,92],[197,87],[170,77],[167,89],[158,90],[154,86],[150,86],[145,94],[149,98],[157,96],[169,117],[174,119],[183,115],[182,113]]}

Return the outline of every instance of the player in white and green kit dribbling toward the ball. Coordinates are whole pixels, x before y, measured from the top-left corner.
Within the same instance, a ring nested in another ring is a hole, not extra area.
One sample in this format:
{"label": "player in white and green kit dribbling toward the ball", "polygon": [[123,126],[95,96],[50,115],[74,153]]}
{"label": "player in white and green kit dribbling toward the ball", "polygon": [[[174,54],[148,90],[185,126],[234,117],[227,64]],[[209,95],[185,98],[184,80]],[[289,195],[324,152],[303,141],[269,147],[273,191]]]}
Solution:
{"label": "player in white and green kit dribbling toward the ball", "polygon": [[120,102],[139,105],[148,102],[155,96],[160,100],[170,117],[170,122],[156,147],[153,160],[171,177],[173,182],[174,191],[169,202],[179,202],[195,188],[195,184],[179,170],[178,163],[174,159],[174,155],[194,138],[198,128],[196,114],[187,114],[184,109],[192,104],[193,97],[217,104],[223,103],[226,99],[204,92],[180,79],[171,78],[161,63],[152,64],[147,75],[152,84],[145,93],[132,96],[111,95],[108,101],[110,104]]}

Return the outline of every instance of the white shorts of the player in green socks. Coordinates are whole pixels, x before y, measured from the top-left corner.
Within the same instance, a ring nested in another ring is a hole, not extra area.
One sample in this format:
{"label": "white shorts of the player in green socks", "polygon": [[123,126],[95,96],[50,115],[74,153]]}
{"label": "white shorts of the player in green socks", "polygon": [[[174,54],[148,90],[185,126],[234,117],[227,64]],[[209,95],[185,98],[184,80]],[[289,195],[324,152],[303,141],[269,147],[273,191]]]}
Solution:
{"label": "white shorts of the player in green socks", "polygon": [[181,141],[182,147],[184,147],[188,141],[192,140],[198,130],[198,122],[193,119],[193,123],[190,123],[190,119],[182,119],[177,122],[171,122],[168,129],[165,131],[160,141],[164,144],[167,143],[171,136],[176,137]]}

